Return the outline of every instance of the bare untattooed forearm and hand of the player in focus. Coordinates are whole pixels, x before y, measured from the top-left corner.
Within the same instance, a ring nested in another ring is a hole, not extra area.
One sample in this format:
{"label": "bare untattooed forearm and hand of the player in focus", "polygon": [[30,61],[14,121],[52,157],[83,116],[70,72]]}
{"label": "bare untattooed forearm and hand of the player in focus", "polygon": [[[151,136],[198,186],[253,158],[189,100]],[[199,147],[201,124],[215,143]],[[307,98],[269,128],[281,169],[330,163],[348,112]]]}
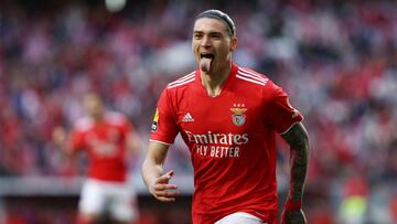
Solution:
{"label": "bare untattooed forearm and hand of the player in focus", "polygon": [[178,186],[170,184],[173,171],[163,173],[163,164],[169,146],[153,142],[149,143],[149,151],[142,164],[142,178],[149,192],[159,201],[173,202],[178,195]]}

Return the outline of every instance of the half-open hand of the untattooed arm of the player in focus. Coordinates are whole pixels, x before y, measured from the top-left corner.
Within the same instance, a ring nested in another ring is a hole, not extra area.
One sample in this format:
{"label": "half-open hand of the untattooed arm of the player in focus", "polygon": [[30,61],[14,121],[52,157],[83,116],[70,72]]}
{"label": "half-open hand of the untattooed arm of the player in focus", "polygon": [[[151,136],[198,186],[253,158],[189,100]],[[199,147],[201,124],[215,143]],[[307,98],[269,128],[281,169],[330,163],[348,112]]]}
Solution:
{"label": "half-open hand of the untattooed arm of the player in focus", "polygon": [[173,170],[160,175],[155,179],[154,183],[149,186],[150,193],[161,202],[174,202],[175,196],[179,194],[175,184],[169,184],[173,175]]}

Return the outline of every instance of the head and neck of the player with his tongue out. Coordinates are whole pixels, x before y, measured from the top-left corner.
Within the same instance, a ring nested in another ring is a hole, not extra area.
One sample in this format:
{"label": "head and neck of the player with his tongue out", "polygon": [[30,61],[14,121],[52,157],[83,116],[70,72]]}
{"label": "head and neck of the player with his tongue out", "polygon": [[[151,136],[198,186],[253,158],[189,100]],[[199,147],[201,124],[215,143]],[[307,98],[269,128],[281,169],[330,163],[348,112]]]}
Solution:
{"label": "head and neck of the player with his tongue out", "polygon": [[200,65],[202,84],[208,96],[219,95],[230,73],[232,52],[236,46],[235,26],[228,15],[214,10],[197,17],[192,49]]}

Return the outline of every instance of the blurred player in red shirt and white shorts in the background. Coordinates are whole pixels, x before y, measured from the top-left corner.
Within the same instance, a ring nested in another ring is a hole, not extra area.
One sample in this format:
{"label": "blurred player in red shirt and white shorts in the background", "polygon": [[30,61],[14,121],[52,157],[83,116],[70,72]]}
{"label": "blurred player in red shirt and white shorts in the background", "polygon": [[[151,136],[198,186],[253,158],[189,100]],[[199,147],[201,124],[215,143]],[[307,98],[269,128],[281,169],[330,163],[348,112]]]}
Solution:
{"label": "blurred player in red shirt and white shorts in the background", "polygon": [[107,111],[101,98],[84,96],[88,114],[74,124],[67,137],[62,128],[53,132],[54,142],[67,154],[84,149],[88,153],[88,178],[78,210],[78,224],[93,224],[105,214],[117,223],[131,224],[138,218],[136,192],[128,182],[127,149],[139,150],[133,127],[120,113]]}

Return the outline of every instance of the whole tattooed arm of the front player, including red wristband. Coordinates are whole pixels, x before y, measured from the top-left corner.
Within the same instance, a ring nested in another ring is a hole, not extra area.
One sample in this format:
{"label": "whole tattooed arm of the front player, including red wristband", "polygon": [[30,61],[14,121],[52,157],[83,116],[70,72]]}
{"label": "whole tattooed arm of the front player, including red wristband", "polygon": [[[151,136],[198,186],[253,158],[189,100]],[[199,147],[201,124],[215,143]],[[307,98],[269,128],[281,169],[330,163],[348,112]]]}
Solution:
{"label": "whole tattooed arm of the front player, including red wristband", "polygon": [[305,217],[301,210],[301,203],[309,163],[309,136],[303,125],[298,122],[283,134],[282,138],[291,148],[291,179],[281,223],[304,224]]}

